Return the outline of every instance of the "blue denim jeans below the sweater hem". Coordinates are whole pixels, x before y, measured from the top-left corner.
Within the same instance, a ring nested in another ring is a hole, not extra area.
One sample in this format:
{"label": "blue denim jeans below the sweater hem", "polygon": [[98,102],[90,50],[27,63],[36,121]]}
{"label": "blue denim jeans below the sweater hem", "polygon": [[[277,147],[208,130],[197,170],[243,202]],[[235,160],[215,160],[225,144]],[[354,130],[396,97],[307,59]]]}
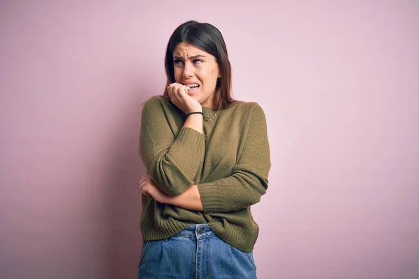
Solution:
{"label": "blue denim jeans below the sweater hem", "polygon": [[256,278],[253,252],[219,239],[207,224],[189,225],[168,239],[142,244],[138,279]]}

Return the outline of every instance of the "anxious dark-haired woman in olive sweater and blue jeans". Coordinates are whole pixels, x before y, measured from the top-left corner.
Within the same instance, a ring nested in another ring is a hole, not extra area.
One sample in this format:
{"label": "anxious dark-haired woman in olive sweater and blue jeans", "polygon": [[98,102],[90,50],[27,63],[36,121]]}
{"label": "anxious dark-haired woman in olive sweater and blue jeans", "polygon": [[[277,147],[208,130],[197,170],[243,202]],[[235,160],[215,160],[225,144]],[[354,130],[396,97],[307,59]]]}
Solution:
{"label": "anxious dark-haired woman in olive sweater and blue jeans", "polygon": [[167,88],[142,109],[143,238],[138,278],[256,278],[250,206],[267,189],[265,114],[233,100],[226,44],[212,24],[181,24]]}

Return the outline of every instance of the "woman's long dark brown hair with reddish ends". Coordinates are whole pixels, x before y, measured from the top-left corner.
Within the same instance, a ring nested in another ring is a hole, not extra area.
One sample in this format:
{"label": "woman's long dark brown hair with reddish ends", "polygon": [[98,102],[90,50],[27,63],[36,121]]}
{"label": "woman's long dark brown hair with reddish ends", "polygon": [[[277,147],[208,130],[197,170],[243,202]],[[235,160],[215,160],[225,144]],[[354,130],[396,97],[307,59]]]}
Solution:
{"label": "woman's long dark brown hair with reddish ends", "polygon": [[173,31],[166,48],[166,88],[163,96],[169,97],[167,87],[175,82],[175,69],[173,67],[173,50],[179,43],[189,43],[209,54],[215,56],[219,65],[221,77],[216,80],[214,104],[216,110],[223,110],[235,102],[231,96],[231,66],[228,60],[227,47],[219,29],[209,23],[200,23],[194,20],[184,22]]}

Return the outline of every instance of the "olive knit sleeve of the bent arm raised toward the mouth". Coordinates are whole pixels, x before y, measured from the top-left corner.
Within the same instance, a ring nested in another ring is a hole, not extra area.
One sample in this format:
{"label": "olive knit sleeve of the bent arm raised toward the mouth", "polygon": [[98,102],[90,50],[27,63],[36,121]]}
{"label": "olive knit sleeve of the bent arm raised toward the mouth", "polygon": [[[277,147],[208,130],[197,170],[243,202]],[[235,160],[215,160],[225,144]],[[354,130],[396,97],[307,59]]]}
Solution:
{"label": "olive knit sleeve of the bent arm raised toward the mouth", "polygon": [[140,157],[154,182],[168,195],[180,195],[191,185],[203,163],[204,136],[182,127],[173,135],[159,97],[142,108]]}

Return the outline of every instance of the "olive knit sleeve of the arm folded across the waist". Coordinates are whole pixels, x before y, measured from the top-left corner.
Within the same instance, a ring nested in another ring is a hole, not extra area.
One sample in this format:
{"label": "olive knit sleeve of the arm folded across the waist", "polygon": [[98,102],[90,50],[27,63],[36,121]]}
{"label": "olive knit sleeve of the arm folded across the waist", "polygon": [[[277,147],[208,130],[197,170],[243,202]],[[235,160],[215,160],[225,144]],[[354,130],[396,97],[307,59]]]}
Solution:
{"label": "olive knit sleeve of the arm folded across the waist", "polygon": [[256,204],[267,190],[270,147],[262,107],[255,103],[244,146],[230,176],[198,184],[205,213],[228,212]]}

